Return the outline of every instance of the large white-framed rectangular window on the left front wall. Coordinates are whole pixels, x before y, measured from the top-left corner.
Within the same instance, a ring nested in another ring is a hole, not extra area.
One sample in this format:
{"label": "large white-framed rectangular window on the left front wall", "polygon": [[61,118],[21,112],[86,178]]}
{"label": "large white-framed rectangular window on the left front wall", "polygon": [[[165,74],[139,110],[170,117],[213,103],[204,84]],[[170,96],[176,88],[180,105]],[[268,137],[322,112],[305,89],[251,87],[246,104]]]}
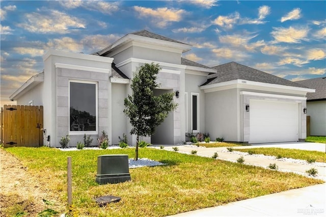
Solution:
{"label": "large white-framed rectangular window on the left front wall", "polygon": [[69,82],[70,134],[97,134],[97,83]]}

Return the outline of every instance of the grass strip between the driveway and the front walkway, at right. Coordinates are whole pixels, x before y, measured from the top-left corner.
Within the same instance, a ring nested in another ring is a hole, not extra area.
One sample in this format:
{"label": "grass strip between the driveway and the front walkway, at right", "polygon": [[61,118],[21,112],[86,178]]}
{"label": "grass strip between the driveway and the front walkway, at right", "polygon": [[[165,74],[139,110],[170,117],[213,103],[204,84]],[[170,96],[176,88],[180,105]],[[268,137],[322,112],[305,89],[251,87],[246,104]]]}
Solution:
{"label": "grass strip between the driveway and the front walkway, at right", "polygon": [[305,151],[288,148],[252,148],[252,149],[234,149],[235,151],[248,152],[253,151],[255,154],[264,154],[269,156],[282,156],[293,159],[315,159],[316,162],[326,162],[326,154],[321,151]]}

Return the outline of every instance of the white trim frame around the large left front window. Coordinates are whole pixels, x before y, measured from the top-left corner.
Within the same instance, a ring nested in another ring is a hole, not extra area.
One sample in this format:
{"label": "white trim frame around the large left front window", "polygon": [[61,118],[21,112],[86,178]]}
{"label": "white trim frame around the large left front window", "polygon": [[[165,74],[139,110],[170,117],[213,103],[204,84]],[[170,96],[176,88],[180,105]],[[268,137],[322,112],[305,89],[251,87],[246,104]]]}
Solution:
{"label": "white trim frame around the large left front window", "polygon": [[[70,83],[84,83],[84,84],[95,84],[95,106],[96,106],[96,130],[95,131],[70,131]],[[68,132],[69,135],[84,135],[84,134],[98,134],[98,82],[91,82],[91,81],[86,81],[86,80],[74,80],[74,79],[69,79],[69,84],[68,84]]]}

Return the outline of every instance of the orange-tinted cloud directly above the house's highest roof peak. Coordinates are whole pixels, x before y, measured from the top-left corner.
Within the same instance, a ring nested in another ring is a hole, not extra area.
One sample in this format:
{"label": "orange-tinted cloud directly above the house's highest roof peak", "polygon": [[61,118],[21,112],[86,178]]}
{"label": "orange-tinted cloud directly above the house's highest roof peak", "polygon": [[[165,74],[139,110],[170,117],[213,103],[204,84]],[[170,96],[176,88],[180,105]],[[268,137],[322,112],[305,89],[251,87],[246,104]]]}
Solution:
{"label": "orange-tinted cloud directly above the house's highest roof peak", "polygon": [[169,8],[145,8],[134,6],[133,9],[139,13],[141,17],[151,17],[151,21],[161,28],[166,27],[171,22],[177,22],[182,19],[182,15],[186,12],[182,9]]}

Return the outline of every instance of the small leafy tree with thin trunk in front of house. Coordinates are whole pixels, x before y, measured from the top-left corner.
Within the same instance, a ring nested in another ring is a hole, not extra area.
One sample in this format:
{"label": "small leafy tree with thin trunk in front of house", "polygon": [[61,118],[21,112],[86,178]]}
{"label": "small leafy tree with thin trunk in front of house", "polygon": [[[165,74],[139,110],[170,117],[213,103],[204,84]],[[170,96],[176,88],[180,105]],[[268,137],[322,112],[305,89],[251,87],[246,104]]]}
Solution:
{"label": "small leafy tree with thin trunk in front of house", "polygon": [[173,102],[174,93],[154,96],[154,89],[159,87],[156,83],[159,70],[161,67],[154,63],[141,66],[132,78],[131,96],[124,99],[123,112],[130,119],[130,133],[137,135],[135,160],[138,160],[139,137],[153,135],[155,128],[178,106]]}

